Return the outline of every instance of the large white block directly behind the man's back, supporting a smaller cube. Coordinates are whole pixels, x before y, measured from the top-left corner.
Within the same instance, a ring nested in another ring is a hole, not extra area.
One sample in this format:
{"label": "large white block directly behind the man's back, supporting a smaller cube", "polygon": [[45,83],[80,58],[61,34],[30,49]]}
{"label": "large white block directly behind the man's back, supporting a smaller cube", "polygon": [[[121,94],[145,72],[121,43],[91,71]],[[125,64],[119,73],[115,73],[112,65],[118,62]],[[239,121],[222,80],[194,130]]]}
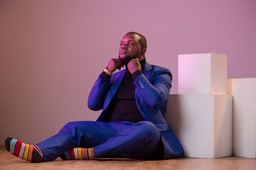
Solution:
{"label": "large white block directly behind the man's back, supporting a smaller cube", "polygon": [[169,95],[165,115],[186,157],[232,155],[232,96]]}

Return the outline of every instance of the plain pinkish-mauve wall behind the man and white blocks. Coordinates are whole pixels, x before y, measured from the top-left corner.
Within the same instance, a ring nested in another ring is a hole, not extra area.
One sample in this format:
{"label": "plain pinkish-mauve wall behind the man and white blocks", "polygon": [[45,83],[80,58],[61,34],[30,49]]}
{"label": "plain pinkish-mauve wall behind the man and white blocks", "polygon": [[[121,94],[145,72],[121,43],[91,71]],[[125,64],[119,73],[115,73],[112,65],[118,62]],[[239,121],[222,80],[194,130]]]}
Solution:
{"label": "plain pinkish-mauve wall behind the man and white blocks", "polygon": [[147,38],[146,59],[173,73],[178,54],[224,53],[228,78],[256,77],[255,0],[0,1],[0,144],[31,144],[68,121],[96,120],[90,88],[126,32]]}

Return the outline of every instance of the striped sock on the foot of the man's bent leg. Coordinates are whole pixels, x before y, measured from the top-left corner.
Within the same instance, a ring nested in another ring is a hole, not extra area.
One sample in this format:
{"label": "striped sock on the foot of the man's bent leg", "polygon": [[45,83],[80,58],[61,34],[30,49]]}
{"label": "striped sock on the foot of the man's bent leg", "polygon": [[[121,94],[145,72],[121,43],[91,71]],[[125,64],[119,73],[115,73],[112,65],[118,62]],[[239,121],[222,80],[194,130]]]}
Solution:
{"label": "striped sock on the foot of the man's bent leg", "polygon": [[91,160],[95,159],[93,148],[71,148],[59,157],[63,160]]}

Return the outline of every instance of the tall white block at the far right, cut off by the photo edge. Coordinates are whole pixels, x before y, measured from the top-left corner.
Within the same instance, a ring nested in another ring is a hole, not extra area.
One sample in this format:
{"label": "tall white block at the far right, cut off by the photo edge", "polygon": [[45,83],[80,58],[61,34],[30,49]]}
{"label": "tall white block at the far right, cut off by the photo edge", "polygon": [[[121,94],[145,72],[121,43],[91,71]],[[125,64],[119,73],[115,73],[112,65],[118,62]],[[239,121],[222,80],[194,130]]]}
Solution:
{"label": "tall white block at the far right, cut off by the photo edge", "polygon": [[256,158],[256,78],[228,79],[233,95],[233,155]]}

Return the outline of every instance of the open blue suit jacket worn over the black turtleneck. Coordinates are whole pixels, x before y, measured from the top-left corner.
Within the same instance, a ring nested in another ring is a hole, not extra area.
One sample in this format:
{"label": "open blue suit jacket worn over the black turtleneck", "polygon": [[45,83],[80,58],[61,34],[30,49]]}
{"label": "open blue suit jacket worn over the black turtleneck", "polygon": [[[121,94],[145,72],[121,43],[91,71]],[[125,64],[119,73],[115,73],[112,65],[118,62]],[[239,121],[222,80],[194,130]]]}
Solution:
{"label": "open blue suit jacket worn over the black turtleneck", "polygon": [[[114,73],[110,79],[99,77],[95,82],[89,94],[88,107],[94,111],[103,109],[97,121],[109,121],[111,113],[108,108],[125,72],[126,69]],[[184,151],[181,143],[165,119],[172,74],[166,68],[150,65],[147,62],[142,72],[143,74],[134,81],[137,107],[142,117],[154,123],[159,130],[165,150],[163,159],[182,158]]]}

